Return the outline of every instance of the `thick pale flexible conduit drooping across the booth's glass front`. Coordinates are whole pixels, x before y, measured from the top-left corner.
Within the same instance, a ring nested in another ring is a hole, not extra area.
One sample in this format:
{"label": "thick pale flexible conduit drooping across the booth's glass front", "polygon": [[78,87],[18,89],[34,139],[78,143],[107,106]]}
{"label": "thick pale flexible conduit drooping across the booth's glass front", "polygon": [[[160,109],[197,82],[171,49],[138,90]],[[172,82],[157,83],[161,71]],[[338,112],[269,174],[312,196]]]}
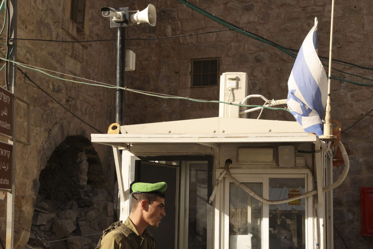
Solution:
{"label": "thick pale flexible conduit drooping across the booth's glass front", "polygon": [[[343,160],[345,161],[345,168],[343,169],[343,172],[342,172],[341,176],[338,178],[338,180],[335,181],[335,183],[333,183],[332,185],[329,185],[327,187],[323,187],[323,192],[332,190],[335,187],[339,186],[339,184],[341,184],[345,180],[345,178],[346,178],[346,176],[348,174],[348,170],[350,169],[350,161],[348,160],[347,152],[346,152],[345,147],[343,146],[343,144],[342,144],[341,141],[338,142],[338,147],[339,147],[339,149],[342,152]],[[223,173],[226,174],[226,175],[228,175],[228,177],[230,178],[230,180],[232,180],[236,185],[240,186],[248,194],[250,194],[255,199],[257,199],[257,200],[259,200],[259,201],[261,201],[263,203],[267,203],[267,204],[281,204],[281,203],[291,202],[293,200],[298,200],[298,199],[301,199],[301,198],[304,198],[304,197],[307,197],[307,196],[311,196],[311,195],[317,194],[316,190],[312,190],[312,191],[309,191],[307,193],[300,194],[298,196],[291,197],[291,198],[288,198],[288,199],[283,199],[283,200],[267,200],[267,199],[264,199],[263,197],[261,197],[258,194],[256,194],[253,190],[251,190],[248,187],[246,187],[243,183],[239,182],[236,178],[232,177],[231,172],[229,171],[229,168],[230,168],[231,164],[232,164],[232,161],[231,162],[225,162],[225,171],[226,172],[223,172]],[[222,173],[222,175],[223,175],[223,173]],[[220,175],[219,178],[222,178],[222,175]],[[217,186],[215,186],[215,188],[213,190],[213,194],[210,197],[209,203],[211,203],[213,201],[214,197],[215,197],[216,187]]]}

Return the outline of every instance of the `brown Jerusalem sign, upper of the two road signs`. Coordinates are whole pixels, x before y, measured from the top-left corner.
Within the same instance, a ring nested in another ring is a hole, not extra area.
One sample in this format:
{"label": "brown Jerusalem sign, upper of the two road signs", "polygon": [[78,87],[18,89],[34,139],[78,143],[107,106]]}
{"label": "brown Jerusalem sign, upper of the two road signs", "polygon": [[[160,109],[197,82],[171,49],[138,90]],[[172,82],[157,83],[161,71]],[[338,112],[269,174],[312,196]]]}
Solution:
{"label": "brown Jerusalem sign, upper of the two road signs", "polygon": [[0,133],[13,136],[13,94],[0,87]]}

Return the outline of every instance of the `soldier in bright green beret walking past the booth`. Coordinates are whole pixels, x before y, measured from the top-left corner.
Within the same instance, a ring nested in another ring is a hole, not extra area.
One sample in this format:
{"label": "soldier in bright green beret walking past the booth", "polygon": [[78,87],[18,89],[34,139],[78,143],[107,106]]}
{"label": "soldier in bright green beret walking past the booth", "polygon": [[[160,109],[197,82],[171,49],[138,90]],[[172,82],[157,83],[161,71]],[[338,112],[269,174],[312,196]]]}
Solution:
{"label": "soldier in bright green beret walking past the booth", "polygon": [[131,213],[125,222],[118,221],[103,231],[97,249],[156,249],[146,227],[158,227],[164,212],[167,184],[135,183],[132,185]]}

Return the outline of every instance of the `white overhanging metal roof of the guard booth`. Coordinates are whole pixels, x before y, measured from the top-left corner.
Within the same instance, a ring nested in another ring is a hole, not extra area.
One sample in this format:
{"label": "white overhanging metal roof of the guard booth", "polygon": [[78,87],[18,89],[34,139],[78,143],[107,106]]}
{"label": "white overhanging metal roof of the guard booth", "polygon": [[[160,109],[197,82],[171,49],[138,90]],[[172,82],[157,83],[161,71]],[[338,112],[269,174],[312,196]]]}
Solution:
{"label": "white overhanging metal roof of the guard booth", "polygon": [[315,142],[293,121],[245,118],[201,118],[180,121],[122,125],[121,134],[91,134],[92,142],[127,147],[144,143],[256,143]]}

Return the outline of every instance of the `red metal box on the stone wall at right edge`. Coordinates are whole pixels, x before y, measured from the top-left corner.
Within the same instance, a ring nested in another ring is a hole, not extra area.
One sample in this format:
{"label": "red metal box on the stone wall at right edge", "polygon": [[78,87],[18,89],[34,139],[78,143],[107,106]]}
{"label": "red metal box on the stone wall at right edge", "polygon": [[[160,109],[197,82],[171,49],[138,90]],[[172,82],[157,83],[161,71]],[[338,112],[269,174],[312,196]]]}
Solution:
{"label": "red metal box on the stone wall at right edge", "polygon": [[373,187],[360,188],[361,235],[373,237]]}

